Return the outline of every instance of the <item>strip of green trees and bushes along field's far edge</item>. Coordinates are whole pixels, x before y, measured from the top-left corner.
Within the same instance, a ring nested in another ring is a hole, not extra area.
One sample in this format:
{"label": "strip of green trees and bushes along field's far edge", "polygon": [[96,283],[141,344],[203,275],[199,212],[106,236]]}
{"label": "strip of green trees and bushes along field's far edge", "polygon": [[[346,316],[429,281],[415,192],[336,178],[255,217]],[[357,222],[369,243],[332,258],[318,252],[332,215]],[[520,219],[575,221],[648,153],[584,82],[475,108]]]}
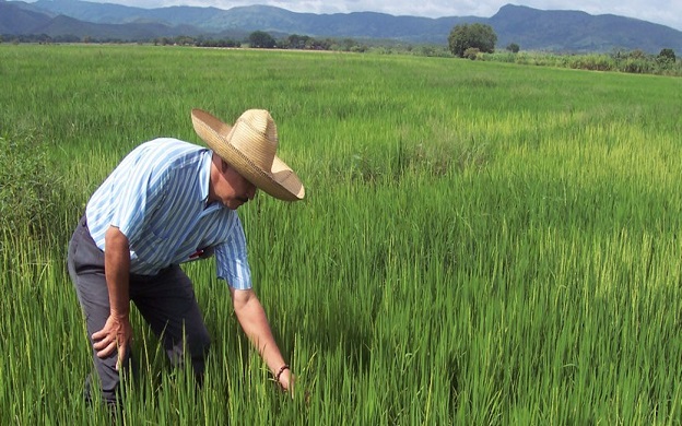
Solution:
{"label": "strip of green trees and bushes along field's far edge", "polygon": [[[48,36],[37,35],[0,35],[0,43],[130,43],[116,38],[95,38],[91,36],[78,37],[74,35]],[[275,38],[263,31],[255,31],[242,40],[233,38],[211,38],[205,36],[175,36],[156,37],[153,39],[136,40],[133,43],[153,43],[154,45],[196,46],[196,47],[250,47],[267,49],[303,49],[303,50],[334,50],[365,52],[368,50],[379,54],[410,54],[420,56],[454,56],[472,60],[490,60],[516,62],[520,64],[546,64],[596,71],[620,71],[631,73],[682,75],[682,61],[678,60],[674,50],[663,48],[658,55],[647,55],[642,50],[614,51],[611,54],[591,55],[556,55],[548,52],[520,52],[521,46],[516,43],[496,50],[497,35],[487,24],[459,24],[452,27],[447,47],[422,46],[413,48],[410,45],[388,45],[386,40],[374,46],[360,43],[353,38],[316,38],[306,35],[292,34],[283,38]]]}

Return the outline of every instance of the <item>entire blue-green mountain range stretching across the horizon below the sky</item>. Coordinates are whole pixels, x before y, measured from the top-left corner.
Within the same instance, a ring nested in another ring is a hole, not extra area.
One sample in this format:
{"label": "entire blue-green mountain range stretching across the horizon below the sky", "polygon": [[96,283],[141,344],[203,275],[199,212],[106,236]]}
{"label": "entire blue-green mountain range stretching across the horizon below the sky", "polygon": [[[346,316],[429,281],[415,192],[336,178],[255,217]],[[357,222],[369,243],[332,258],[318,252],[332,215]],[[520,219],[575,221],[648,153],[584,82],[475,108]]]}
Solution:
{"label": "entire blue-green mountain range stretching across the horizon below the sky", "polygon": [[275,37],[396,40],[447,45],[458,24],[489,24],[497,34],[497,48],[515,43],[524,50],[604,52],[663,48],[682,51],[682,32],[632,17],[591,15],[580,11],[543,11],[507,4],[491,17],[393,16],[375,12],[336,14],[296,13],[250,5],[228,10],[198,7],[143,9],[80,0],[38,0],[33,3],[0,0],[0,34],[72,35],[95,39],[150,40],[178,35],[244,39],[255,31]]}

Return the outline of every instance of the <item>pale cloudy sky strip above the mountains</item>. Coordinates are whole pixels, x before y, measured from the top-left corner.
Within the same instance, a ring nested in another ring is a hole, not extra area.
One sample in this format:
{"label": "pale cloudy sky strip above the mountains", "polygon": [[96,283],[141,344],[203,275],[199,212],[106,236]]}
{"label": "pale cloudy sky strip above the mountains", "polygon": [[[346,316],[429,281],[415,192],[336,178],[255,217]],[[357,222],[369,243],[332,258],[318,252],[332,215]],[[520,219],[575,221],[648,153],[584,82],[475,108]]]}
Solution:
{"label": "pale cloudy sky strip above the mountains", "polygon": [[507,3],[540,10],[579,10],[592,15],[614,14],[654,22],[682,31],[681,0],[87,0],[139,8],[198,5],[231,9],[268,4],[301,13],[381,12],[427,17],[491,17]]}

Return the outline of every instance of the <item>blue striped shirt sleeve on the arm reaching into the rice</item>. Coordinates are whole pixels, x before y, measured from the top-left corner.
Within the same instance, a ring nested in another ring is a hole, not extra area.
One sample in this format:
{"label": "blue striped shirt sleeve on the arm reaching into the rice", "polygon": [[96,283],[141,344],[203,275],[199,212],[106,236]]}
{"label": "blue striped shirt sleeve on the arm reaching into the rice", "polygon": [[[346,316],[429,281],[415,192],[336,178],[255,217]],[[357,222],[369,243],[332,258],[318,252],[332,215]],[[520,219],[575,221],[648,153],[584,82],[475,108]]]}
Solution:
{"label": "blue striped shirt sleeve on the arm reaching into the rice", "polygon": [[238,216],[230,238],[215,247],[217,277],[236,289],[251,288],[251,270],[246,252],[246,236]]}

